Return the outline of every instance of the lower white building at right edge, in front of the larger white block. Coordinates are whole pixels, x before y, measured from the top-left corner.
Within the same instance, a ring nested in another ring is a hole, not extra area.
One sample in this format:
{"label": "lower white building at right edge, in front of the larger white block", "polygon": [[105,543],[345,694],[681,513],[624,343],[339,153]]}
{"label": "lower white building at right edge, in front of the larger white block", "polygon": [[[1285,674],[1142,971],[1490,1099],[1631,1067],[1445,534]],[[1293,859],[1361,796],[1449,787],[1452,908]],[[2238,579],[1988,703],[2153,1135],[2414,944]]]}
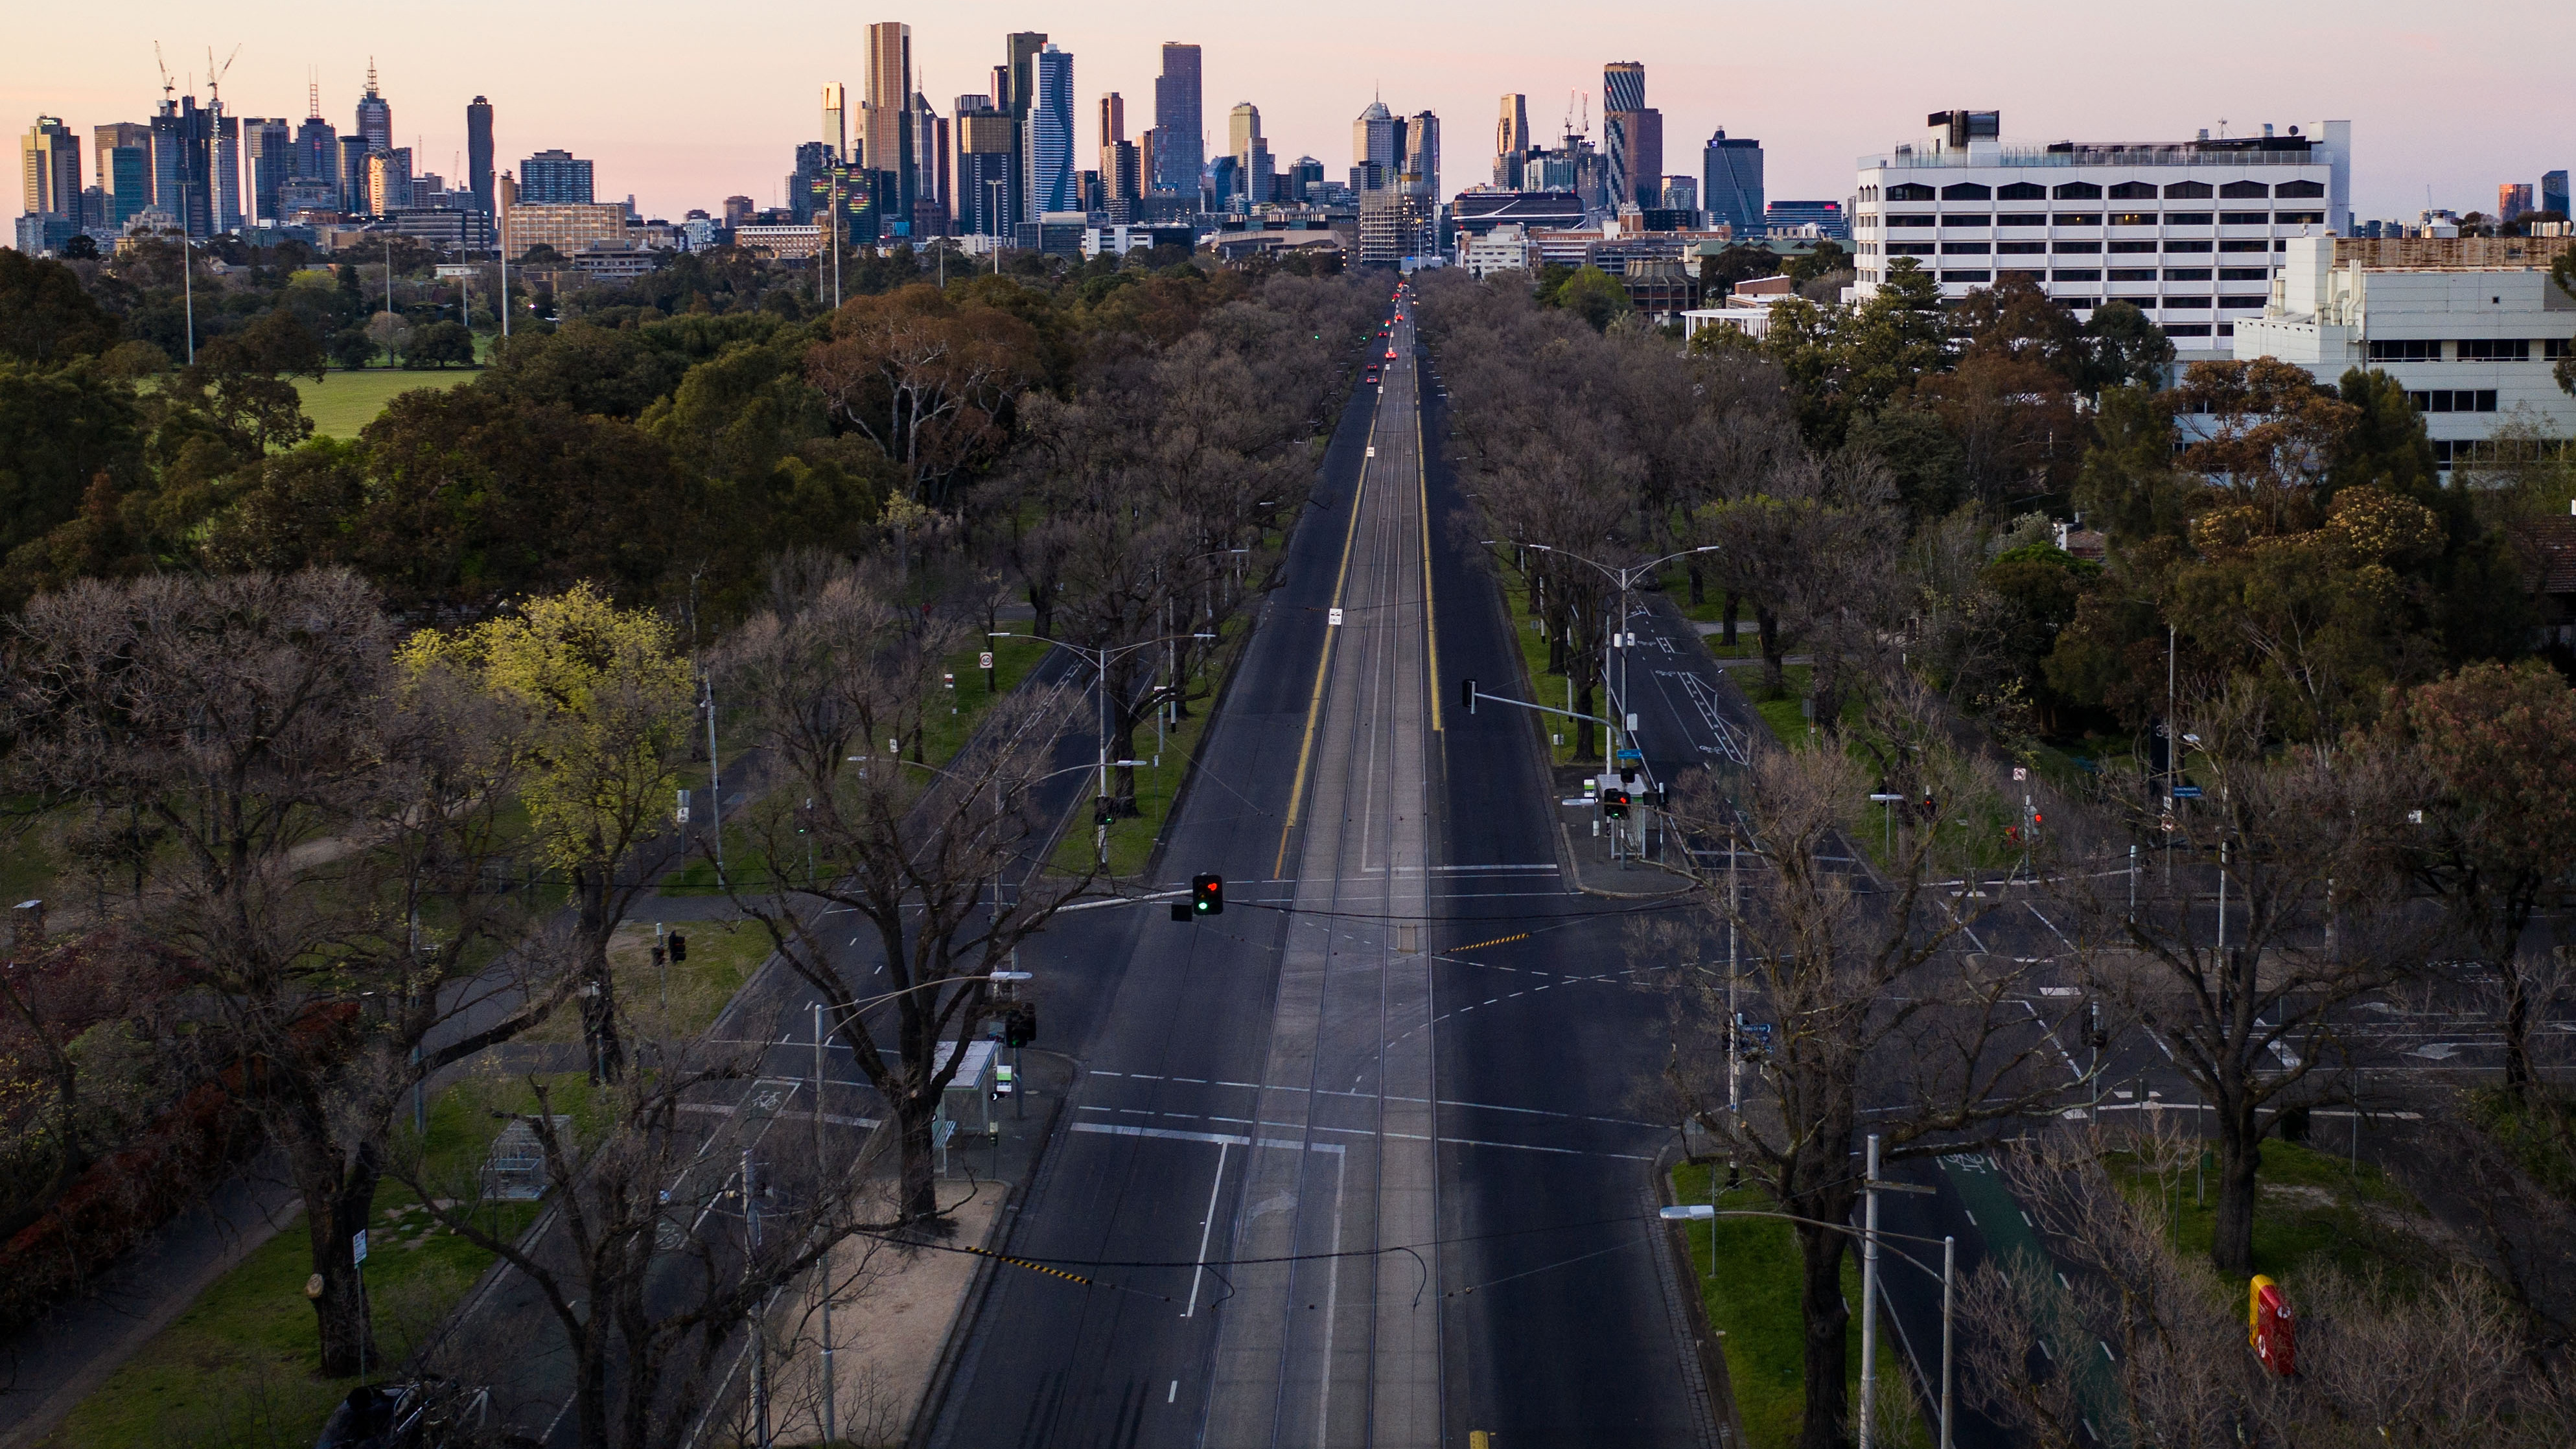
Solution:
{"label": "lower white building at right edge, in front of the larger white block", "polygon": [[2233,355],[2329,386],[2347,368],[2385,371],[2445,468],[2506,425],[2568,443],[2576,396],[2550,371],[2576,347],[2576,296],[2550,278],[2566,252],[2576,237],[2298,237],[2269,306],[2236,322]]}

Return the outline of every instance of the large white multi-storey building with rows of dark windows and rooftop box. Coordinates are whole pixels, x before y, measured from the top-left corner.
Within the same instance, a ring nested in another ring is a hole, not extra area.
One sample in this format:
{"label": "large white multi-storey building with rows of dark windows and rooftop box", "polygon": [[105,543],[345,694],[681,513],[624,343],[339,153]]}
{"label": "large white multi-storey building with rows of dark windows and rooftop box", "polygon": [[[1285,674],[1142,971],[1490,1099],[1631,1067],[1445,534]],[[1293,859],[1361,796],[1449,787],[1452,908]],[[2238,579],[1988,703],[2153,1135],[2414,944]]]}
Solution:
{"label": "large white multi-storey building with rows of dark windows and rooftop box", "polygon": [[2236,322],[2272,299],[2293,237],[2352,221],[2352,124],[2192,142],[2009,144],[1996,111],[1940,111],[1924,142],[1860,157],[1857,296],[1896,257],[1965,296],[2007,273],[2089,317],[2130,301],[2179,363],[2236,353]]}

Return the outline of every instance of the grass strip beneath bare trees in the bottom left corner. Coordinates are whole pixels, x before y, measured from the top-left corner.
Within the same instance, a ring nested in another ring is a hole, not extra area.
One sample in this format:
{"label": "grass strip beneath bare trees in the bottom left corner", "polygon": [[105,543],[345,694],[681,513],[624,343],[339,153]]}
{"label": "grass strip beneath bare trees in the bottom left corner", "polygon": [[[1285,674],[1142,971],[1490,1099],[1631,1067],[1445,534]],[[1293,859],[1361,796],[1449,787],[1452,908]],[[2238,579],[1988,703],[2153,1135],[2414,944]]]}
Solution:
{"label": "grass strip beneath bare trees in the bottom left corner", "polygon": [[[500,1091],[533,1102],[523,1084]],[[428,1161],[443,1171],[482,1161],[500,1130],[489,1114],[495,1102],[495,1084],[443,1091],[430,1104]],[[381,1382],[446,1323],[492,1253],[430,1228],[420,1199],[399,1181],[376,1186],[374,1207],[366,1289],[386,1364],[371,1364],[368,1377]],[[538,1207],[495,1204],[492,1223],[518,1233]],[[358,1380],[314,1374],[322,1349],[304,1302],[309,1271],[312,1246],[299,1215],[80,1400],[46,1449],[312,1444]]]}

